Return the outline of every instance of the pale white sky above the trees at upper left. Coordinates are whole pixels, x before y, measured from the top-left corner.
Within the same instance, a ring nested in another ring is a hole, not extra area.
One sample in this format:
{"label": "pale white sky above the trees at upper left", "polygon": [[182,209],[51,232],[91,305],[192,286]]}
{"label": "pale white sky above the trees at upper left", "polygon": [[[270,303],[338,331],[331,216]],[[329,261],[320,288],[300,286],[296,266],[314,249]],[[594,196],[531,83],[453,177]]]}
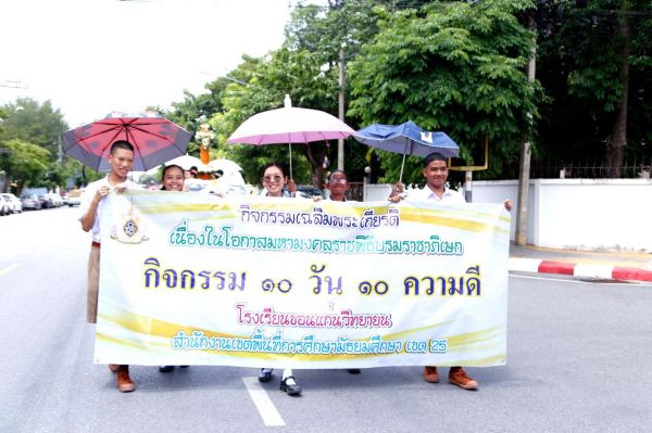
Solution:
{"label": "pale white sky above the trees at upper left", "polygon": [[[297,0],[1,0],[0,105],[50,100],[71,128],[168,109],[284,41]],[[325,1],[312,1],[324,4]],[[10,82],[11,84],[11,82]]]}

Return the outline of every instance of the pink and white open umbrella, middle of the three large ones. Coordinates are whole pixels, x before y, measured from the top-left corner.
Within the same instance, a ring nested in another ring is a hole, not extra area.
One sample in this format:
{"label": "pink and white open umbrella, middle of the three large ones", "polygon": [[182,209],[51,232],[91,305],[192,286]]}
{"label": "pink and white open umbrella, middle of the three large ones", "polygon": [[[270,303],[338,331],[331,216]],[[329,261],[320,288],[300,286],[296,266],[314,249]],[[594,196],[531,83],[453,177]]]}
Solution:
{"label": "pink and white open umbrella, middle of the three large ones", "polygon": [[254,114],[244,120],[226,140],[228,144],[279,144],[290,149],[290,178],[292,177],[291,143],[344,139],[355,131],[331,114],[319,110],[297,109],[286,94],[283,109]]}

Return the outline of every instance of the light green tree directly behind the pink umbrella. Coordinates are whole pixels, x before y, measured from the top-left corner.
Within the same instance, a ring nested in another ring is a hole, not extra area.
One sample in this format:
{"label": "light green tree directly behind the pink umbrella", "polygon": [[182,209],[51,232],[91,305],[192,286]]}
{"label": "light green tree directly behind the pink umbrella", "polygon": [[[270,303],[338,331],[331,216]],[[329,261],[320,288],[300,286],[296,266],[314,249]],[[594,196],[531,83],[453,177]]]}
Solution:
{"label": "light green tree directly behind the pink umbrella", "polygon": [[[206,86],[211,100],[218,100],[222,104],[205,106],[202,113],[210,117],[217,133],[216,154],[238,162],[243,167],[244,178],[252,182],[259,180],[259,170],[264,163],[272,160],[287,162],[287,145],[253,148],[224,143],[251,115],[281,106],[286,93],[291,97],[294,106],[337,114],[338,62],[342,43],[346,43],[347,60],[351,61],[378,31],[376,22],[390,13],[388,11],[421,3],[334,0],[325,8],[300,3],[292,11],[286,27],[286,42],[280,50],[262,59],[243,56],[243,62],[236,69]],[[348,101],[349,88],[346,93]],[[173,118],[192,118],[199,114],[200,104],[193,98],[187,95],[184,103],[175,105],[177,111],[172,114]],[[358,126],[355,118],[347,122]],[[366,149],[352,139],[349,142],[351,145],[346,148],[347,170],[352,178],[362,177]],[[337,147],[331,144],[317,142],[292,148],[293,174],[299,182],[322,183],[325,167],[337,160]]]}

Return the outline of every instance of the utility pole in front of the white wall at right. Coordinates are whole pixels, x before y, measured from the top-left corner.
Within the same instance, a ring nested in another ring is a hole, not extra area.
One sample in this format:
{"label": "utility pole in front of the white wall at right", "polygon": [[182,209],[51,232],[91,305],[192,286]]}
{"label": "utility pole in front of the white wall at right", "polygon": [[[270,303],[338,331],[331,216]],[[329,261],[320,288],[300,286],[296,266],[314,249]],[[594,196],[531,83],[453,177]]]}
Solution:
{"label": "utility pole in front of the white wall at right", "polygon": [[[527,65],[527,78],[530,82],[535,80],[536,67],[537,67],[537,24],[534,15],[530,15],[529,27],[535,33],[532,52],[530,53],[530,60]],[[531,120],[531,113],[527,114],[529,120]],[[529,127],[529,125],[528,125]],[[515,241],[517,245],[525,245],[527,243],[527,203],[528,203],[528,189],[529,189],[529,170],[530,170],[530,156],[531,156],[531,132],[528,131],[527,141],[523,143],[521,148],[521,173],[518,176],[518,213],[516,214],[516,233]]]}

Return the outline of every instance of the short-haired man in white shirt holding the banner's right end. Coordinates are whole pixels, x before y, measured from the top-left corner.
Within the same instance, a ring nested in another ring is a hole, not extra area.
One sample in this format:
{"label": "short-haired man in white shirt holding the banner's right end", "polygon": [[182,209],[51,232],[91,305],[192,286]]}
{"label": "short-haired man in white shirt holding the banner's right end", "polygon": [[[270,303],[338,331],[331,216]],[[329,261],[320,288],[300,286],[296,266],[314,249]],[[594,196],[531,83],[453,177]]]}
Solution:
{"label": "short-haired man in white shirt holding the banner's right end", "polygon": [[[446,186],[448,179],[448,162],[447,158],[437,152],[430,153],[423,161],[424,178],[426,184],[421,190],[411,192],[408,196],[410,201],[424,201],[435,200],[442,204],[463,204],[466,203],[464,195],[457,191],[453,191]],[[404,196],[402,194],[403,188],[401,184],[394,187],[392,195],[389,200],[392,202],[399,202]],[[504,201],[505,209],[512,211],[512,201]],[[437,367],[427,366],[424,368],[424,380],[430,383],[439,382],[439,374],[437,373]],[[468,377],[466,371],[462,367],[451,367],[449,370],[449,382],[455,384],[464,390],[476,390],[478,382]]]}

